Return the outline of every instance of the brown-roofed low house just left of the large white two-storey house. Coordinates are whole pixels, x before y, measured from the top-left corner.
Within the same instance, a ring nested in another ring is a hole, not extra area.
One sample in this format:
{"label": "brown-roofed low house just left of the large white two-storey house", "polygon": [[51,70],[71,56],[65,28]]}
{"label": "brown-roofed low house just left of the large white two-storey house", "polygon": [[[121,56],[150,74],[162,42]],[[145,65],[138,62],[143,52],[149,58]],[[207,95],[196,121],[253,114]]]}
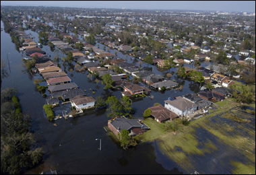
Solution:
{"label": "brown-roofed low house just left of the large white two-storey house", "polygon": [[174,114],[170,110],[164,108],[161,104],[153,106],[149,109],[151,110],[151,115],[155,118],[157,122],[160,123],[166,120],[173,120],[174,118],[178,117],[177,114]]}

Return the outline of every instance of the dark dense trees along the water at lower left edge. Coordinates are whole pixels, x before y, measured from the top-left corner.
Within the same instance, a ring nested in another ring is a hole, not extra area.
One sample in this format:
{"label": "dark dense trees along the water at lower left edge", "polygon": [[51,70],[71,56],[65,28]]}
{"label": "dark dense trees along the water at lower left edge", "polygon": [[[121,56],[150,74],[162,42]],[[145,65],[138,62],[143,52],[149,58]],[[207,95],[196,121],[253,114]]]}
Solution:
{"label": "dark dense trees along the water at lower left edge", "polygon": [[16,94],[16,88],[1,91],[1,174],[22,174],[42,161],[43,151],[30,131],[31,117],[22,113]]}

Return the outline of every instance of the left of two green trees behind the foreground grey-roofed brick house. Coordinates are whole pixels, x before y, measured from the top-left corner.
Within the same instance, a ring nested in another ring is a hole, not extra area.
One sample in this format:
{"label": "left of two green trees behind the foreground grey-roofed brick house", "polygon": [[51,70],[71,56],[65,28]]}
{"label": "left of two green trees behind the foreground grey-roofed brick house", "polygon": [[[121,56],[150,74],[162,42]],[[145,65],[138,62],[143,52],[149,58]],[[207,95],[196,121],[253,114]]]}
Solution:
{"label": "left of two green trees behind the foreground grey-roofed brick house", "polygon": [[109,106],[109,108],[106,110],[108,112],[108,114],[106,114],[108,117],[113,118],[115,116],[123,115],[123,106],[115,96],[108,97],[106,104]]}

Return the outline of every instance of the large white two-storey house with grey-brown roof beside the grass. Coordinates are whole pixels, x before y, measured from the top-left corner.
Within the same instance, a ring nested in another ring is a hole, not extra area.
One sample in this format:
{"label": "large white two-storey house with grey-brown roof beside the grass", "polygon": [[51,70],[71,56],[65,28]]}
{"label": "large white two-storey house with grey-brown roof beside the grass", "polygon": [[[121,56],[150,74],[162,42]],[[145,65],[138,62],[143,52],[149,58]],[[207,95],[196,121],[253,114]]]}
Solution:
{"label": "large white two-storey house with grey-brown roof beside the grass", "polygon": [[197,110],[197,104],[187,100],[181,96],[176,98],[177,100],[165,100],[164,108],[174,112],[178,116],[187,116],[193,114]]}

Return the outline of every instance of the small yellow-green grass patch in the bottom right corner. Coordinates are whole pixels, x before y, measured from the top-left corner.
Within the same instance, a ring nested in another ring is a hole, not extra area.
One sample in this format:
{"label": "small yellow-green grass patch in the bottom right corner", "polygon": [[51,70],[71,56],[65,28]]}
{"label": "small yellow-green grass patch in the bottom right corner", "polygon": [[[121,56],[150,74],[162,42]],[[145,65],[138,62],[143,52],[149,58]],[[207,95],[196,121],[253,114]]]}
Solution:
{"label": "small yellow-green grass patch in the bottom right corner", "polygon": [[255,174],[255,164],[241,164],[241,162],[231,162],[232,166],[236,167],[233,174]]}

